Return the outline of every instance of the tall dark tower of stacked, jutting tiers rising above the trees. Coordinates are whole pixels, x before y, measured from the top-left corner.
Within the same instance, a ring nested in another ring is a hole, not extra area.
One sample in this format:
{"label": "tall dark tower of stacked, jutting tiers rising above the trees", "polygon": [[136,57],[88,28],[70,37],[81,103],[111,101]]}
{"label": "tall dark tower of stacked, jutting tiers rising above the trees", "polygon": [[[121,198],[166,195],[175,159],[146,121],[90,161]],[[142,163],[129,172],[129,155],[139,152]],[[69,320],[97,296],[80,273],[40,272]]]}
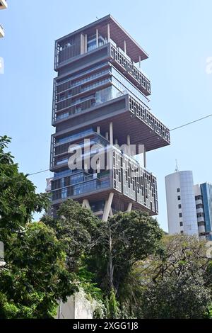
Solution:
{"label": "tall dark tower of stacked, jutting tiers rising above the trees", "polygon": [[[110,15],[56,41],[56,130],[50,158],[54,213],[66,198],[91,208],[105,221],[120,210],[158,213],[157,181],[146,169],[146,152],[170,145],[170,131],[148,106],[151,82],[141,71],[147,58]],[[71,170],[75,146],[81,147],[82,164]],[[105,162],[97,160],[91,167],[97,152]]]}

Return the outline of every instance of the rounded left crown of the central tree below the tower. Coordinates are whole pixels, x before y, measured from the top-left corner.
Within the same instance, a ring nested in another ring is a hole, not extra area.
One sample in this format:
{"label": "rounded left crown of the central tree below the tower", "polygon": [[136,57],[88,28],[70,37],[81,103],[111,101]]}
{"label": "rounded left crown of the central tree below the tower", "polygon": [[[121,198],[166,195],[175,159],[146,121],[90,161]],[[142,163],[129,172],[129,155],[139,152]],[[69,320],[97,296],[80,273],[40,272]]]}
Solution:
{"label": "rounded left crown of the central tree below the tower", "polygon": [[95,248],[100,237],[100,219],[76,201],[68,199],[57,211],[58,218],[45,216],[42,221],[52,227],[64,244],[70,272],[78,271],[85,255]]}

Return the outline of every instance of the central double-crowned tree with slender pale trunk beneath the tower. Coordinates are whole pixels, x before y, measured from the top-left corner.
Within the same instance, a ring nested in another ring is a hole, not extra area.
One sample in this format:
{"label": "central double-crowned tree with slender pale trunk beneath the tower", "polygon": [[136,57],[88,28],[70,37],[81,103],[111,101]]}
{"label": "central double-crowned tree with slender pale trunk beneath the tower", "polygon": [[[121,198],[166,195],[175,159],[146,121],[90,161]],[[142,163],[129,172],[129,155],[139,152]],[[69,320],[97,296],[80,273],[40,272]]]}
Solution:
{"label": "central double-crowned tree with slender pale trunk beneath the tower", "polygon": [[[126,286],[136,261],[158,248],[163,235],[158,222],[139,211],[118,213],[102,222],[91,210],[72,200],[63,203],[57,214],[57,219],[45,217],[42,221],[53,227],[63,242],[69,271],[77,274],[79,286],[83,283],[87,290],[100,288],[107,316],[119,317],[119,298],[125,305],[123,283]],[[82,267],[86,267],[87,277],[92,276],[87,286],[81,280]]]}

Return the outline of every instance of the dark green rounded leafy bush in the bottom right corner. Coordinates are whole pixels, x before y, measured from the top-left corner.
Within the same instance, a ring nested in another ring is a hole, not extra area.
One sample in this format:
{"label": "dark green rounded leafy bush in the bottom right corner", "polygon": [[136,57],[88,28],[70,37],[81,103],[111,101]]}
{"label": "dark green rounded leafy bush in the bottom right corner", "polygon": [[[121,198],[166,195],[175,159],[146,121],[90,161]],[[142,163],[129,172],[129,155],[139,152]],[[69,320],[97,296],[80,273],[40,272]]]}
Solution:
{"label": "dark green rounded leafy bush in the bottom right corner", "polygon": [[204,318],[211,304],[211,293],[204,286],[201,273],[187,271],[149,283],[141,304],[144,318]]}

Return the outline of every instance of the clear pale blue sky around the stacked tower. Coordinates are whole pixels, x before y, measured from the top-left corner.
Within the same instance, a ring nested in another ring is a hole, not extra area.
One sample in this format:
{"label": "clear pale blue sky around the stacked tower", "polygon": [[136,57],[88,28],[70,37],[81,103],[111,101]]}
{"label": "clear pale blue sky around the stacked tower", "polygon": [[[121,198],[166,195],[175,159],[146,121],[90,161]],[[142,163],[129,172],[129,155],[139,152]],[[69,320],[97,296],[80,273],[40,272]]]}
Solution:
{"label": "clear pale blue sky around the stacked tower", "polygon": [[[8,0],[0,12],[5,73],[0,74],[0,133],[13,138],[20,171],[49,167],[54,40],[111,13],[150,55],[142,63],[152,83],[151,110],[169,128],[211,113],[211,0]],[[158,178],[160,225],[167,230],[166,174],[194,171],[195,183],[212,181],[212,118],[171,132],[170,147],[147,154]],[[50,172],[31,176],[45,191]]]}

